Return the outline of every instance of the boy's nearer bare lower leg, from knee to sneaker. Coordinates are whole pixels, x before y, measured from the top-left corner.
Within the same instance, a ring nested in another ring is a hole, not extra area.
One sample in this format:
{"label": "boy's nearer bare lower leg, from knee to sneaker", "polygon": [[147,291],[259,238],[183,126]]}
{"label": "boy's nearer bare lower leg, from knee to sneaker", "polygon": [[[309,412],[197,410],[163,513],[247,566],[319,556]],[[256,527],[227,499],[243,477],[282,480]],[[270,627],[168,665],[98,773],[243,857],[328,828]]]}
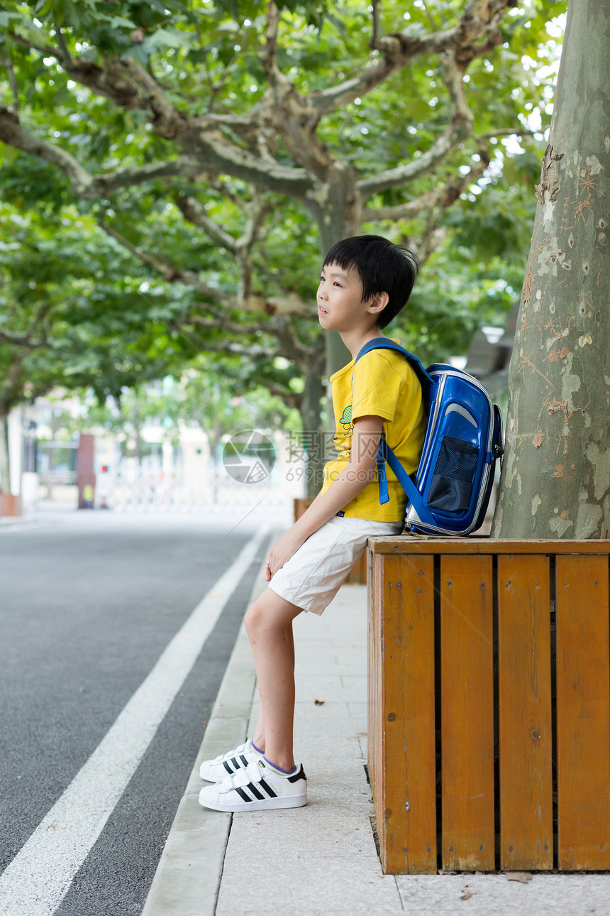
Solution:
{"label": "boy's nearer bare lower leg, from knee to sneaker", "polygon": [[[246,614],[261,713],[254,744],[276,767],[294,768],[294,639],[293,620],[302,608],[267,588]],[[263,742],[261,746],[257,742]]]}

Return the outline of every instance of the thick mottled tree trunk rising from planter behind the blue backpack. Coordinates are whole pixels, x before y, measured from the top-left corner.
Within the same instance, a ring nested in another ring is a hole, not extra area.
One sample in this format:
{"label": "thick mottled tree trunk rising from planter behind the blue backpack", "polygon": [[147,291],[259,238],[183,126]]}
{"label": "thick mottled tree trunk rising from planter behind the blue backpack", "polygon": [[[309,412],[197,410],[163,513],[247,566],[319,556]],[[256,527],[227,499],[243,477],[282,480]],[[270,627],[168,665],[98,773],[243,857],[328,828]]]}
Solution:
{"label": "thick mottled tree trunk rising from planter behind the blue backpack", "polygon": [[502,538],[610,527],[610,5],[570,0],[508,376]]}

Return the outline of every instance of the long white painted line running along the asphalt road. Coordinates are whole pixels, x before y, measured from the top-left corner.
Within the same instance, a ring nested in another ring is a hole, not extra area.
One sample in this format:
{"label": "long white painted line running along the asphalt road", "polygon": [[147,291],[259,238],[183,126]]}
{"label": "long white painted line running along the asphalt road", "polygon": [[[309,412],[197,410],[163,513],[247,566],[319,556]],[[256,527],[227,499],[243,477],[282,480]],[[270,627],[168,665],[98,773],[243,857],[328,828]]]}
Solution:
{"label": "long white painted line running along the asphalt road", "polygon": [[57,910],[268,532],[262,529],[246,544],[197,605],[68,789],[0,876],[3,916],[50,916]]}

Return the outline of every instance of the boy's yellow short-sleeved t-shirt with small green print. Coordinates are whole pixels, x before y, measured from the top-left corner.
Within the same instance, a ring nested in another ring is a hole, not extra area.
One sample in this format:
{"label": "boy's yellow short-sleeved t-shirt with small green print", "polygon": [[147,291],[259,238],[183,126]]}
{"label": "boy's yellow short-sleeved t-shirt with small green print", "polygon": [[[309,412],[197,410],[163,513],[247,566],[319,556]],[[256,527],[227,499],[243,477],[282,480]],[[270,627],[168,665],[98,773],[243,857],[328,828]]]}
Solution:
{"label": "boy's yellow short-sleeved t-shirt with small green print", "polygon": [[[391,338],[399,343],[396,338]],[[392,350],[371,350],[358,363],[351,363],[330,376],[337,423],[334,444],[337,458],[324,468],[322,493],[345,468],[351,453],[354,420],[375,416],[383,419],[383,434],[407,474],[417,470],[425,435],[422,387],[404,356]],[[352,384],[353,376],[353,384]],[[386,465],[390,501],[380,505],[377,469],[375,478],[343,511],[346,518],[401,521],[407,496]]]}

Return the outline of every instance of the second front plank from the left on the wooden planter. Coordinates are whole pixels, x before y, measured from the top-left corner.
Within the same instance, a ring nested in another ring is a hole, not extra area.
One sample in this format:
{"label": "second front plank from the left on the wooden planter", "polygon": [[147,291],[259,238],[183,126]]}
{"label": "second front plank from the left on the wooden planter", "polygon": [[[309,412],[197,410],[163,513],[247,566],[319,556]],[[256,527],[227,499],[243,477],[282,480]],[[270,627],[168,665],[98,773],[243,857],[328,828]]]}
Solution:
{"label": "second front plank from the left on the wooden planter", "polygon": [[495,868],[493,562],[441,559],[443,867]]}

